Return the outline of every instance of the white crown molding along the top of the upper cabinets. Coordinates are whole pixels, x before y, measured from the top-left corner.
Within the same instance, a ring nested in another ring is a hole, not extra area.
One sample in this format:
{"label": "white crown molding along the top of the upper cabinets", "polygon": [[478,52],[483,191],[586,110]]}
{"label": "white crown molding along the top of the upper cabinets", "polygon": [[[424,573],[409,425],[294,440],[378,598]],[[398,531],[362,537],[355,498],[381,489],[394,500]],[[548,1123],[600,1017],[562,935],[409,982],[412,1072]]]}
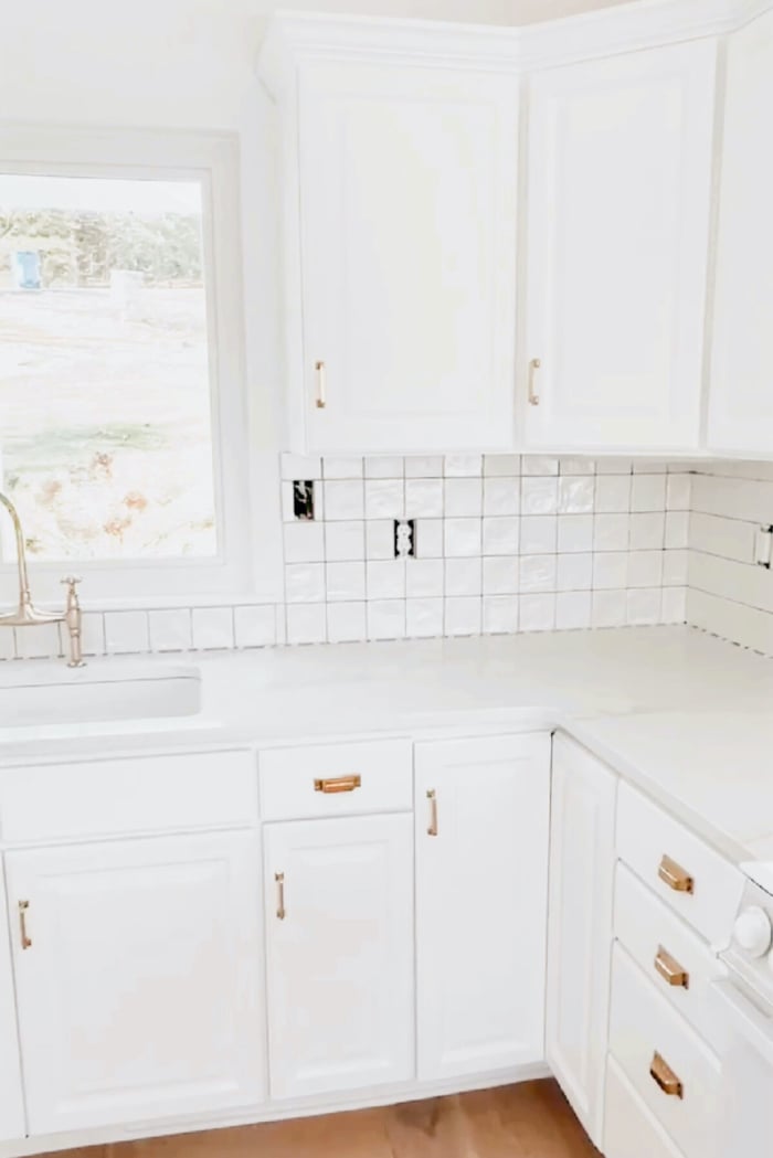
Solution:
{"label": "white crown molding along the top of the upper cabinets", "polygon": [[771,8],[773,0],[637,0],[522,28],[279,12],[258,73],[274,96],[312,60],[513,74],[722,36]]}

